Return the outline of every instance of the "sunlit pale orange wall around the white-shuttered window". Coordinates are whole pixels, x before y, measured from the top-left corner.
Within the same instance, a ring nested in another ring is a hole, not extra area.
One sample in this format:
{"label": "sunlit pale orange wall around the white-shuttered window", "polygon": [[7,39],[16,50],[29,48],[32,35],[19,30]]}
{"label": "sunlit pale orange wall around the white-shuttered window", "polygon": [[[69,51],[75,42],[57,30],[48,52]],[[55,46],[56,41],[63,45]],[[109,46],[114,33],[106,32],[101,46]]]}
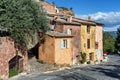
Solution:
{"label": "sunlit pale orange wall around the white-shuttered window", "polygon": [[[69,48],[61,48],[60,41],[62,39],[69,40]],[[56,38],[55,39],[55,63],[57,64],[72,64],[72,38]]]}

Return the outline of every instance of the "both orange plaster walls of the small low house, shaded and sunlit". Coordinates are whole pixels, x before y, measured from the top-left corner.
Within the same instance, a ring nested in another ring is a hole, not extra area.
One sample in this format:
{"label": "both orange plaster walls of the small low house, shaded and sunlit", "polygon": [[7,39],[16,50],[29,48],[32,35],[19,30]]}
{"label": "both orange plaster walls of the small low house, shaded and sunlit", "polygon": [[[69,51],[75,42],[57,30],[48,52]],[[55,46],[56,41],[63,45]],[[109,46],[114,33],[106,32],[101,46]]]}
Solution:
{"label": "both orange plaster walls of the small low house, shaded and sunlit", "polygon": [[[61,40],[69,40],[69,48],[61,48]],[[39,44],[39,61],[51,64],[72,64],[72,36],[46,35]]]}

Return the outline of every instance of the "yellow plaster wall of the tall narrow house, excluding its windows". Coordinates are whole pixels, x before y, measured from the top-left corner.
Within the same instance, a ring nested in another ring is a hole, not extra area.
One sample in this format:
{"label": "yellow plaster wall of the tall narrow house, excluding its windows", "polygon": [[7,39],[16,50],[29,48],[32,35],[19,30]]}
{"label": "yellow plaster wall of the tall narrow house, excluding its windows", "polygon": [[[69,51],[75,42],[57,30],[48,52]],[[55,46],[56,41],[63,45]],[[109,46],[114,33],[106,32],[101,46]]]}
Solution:
{"label": "yellow plaster wall of the tall narrow house, excluding its windows", "polygon": [[[90,34],[87,33],[87,25],[81,25],[81,52],[85,52],[86,60],[89,61],[89,53],[93,53],[95,61],[95,26],[90,25]],[[87,48],[87,39],[90,39],[90,49]]]}

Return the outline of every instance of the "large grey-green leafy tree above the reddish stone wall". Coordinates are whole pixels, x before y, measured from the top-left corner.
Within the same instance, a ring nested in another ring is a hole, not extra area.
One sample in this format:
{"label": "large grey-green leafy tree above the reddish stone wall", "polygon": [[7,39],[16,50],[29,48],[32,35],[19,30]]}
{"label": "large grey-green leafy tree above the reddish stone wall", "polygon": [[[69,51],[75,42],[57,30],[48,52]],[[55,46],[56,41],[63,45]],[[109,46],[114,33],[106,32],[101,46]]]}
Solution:
{"label": "large grey-green leafy tree above the reddish stone wall", "polygon": [[49,29],[47,22],[35,0],[0,0],[0,29],[6,29],[17,45],[27,48],[35,32]]}

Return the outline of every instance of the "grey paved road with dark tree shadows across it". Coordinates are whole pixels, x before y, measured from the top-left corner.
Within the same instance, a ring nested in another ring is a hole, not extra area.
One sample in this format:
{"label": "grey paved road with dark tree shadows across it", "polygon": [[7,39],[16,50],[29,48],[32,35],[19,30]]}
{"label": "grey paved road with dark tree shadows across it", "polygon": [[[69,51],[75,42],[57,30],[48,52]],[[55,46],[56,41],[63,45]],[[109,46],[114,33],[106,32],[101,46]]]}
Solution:
{"label": "grey paved road with dark tree shadows across it", "polygon": [[109,62],[53,72],[35,73],[14,80],[120,80],[120,56],[109,55]]}

